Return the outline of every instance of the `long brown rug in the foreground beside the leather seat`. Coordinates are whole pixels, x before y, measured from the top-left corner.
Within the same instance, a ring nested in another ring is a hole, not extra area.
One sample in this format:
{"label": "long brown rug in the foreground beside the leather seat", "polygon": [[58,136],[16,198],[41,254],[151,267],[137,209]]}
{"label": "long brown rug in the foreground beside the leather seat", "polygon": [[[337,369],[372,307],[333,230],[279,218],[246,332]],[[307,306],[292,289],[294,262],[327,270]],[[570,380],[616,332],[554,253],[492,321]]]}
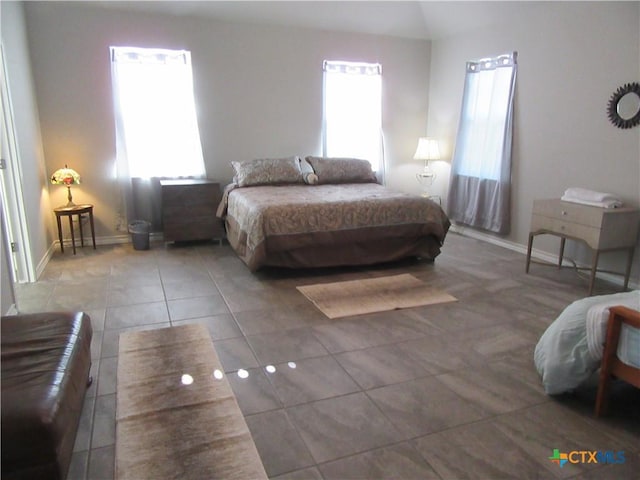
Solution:
{"label": "long brown rug in the foreground beside the leather seat", "polygon": [[204,325],[120,335],[116,479],[266,479]]}

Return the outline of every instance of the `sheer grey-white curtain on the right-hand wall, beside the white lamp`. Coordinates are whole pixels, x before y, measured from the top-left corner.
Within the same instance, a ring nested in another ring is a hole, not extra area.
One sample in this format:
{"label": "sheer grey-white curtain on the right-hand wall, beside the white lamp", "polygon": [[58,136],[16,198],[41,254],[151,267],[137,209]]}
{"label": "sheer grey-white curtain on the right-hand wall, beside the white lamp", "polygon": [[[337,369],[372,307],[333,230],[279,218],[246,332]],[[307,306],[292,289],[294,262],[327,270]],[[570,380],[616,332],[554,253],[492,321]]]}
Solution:
{"label": "sheer grey-white curtain on the right-hand wall, beside the white lamp", "polygon": [[467,62],[451,165],[451,220],[505,235],[511,227],[511,144],[517,53]]}

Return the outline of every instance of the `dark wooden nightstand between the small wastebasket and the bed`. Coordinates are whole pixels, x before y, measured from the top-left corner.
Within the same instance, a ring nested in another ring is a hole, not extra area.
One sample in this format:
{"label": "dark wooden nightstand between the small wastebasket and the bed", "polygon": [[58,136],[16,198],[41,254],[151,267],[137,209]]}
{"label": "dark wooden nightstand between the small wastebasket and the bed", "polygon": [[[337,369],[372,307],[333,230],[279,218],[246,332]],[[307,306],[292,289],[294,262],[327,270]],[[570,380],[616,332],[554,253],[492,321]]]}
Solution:
{"label": "dark wooden nightstand between the small wastebasket and the bed", "polygon": [[208,179],[161,180],[162,226],[165,242],[223,239],[216,209],[220,184]]}

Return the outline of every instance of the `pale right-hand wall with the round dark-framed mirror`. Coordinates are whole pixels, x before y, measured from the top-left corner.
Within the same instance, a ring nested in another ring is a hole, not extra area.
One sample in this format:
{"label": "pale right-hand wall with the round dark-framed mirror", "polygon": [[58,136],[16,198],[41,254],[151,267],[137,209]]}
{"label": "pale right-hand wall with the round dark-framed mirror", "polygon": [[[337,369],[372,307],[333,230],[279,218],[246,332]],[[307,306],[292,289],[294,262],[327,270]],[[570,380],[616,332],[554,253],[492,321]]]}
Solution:
{"label": "pale right-hand wall with the round dark-framed mirror", "polygon": [[[608,120],[611,94],[640,80],[640,3],[523,3],[522,21],[433,41],[429,135],[450,159],[467,60],[518,52],[513,151],[512,231],[526,245],[536,198],[558,198],[568,187],[613,192],[640,204],[640,127],[621,130]],[[449,165],[438,165],[436,188],[446,197]],[[547,238],[545,238],[547,237]],[[557,254],[559,241],[537,237],[535,248]],[[638,249],[634,277],[638,279]],[[567,254],[590,263],[582,246]],[[601,257],[623,271],[624,255]]]}

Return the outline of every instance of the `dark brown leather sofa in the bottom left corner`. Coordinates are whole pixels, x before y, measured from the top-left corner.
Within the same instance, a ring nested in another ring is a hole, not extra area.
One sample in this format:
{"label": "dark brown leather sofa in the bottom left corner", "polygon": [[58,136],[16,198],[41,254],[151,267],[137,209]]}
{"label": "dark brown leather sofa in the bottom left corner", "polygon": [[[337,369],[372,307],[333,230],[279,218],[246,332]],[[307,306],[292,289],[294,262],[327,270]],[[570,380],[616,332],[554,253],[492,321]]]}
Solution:
{"label": "dark brown leather sofa in the bottom left corner", "polygon": [[2,479],[60,479],[69,470],[91,367],[82,312],[2,317]]}

